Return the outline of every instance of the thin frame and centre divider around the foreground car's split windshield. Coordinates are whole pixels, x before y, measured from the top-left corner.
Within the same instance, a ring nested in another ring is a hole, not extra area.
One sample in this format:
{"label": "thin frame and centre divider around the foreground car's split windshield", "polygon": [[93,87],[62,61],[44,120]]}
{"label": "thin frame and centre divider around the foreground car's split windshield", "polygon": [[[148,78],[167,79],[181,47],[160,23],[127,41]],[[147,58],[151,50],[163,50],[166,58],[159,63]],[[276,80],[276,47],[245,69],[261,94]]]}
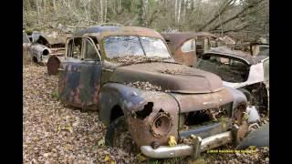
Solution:
{"label": "thin frame and centre divider around the foreground car's split windshield", "polygon": [[[111,35],[110,35],[110,36],[111,36]],[[101,38],[101,42],[100,42],[100,43],[101,43],[100,46],[101,46],[101,51],[103,52],[103,53],[102,53],[102,57],[103,57],[105,60],[112,62],[112,58],[110,58],[109,56],[107,56],[106,49],[105,49],[105,39],[108,38],[108,37],[110,37],[110,36],[104,36],[104,37],[102,37],[102,38]],[[142,51],[143,51],[143,53],[144,53],[144,56],[146,56],[146,55],[145,55],[144,47],[143,47],[142,44],[141,44],[141,38],[140,38],[140,37],[149,37],[149,38],[151,38],[151,39],[158,39],[158,40],[161,40],[162,43],[164,44],[164,46],[166,47],[167,52],[168,52],[168,54],[169,54],[169,56],[170,56],[170,57],[168,57],[168,58],[162,58],[162,60],[172,60],[172,59],[174,60],[174,58],[173,58],[173,56],[172,56],[172,53],[171,53],[171,51],[170,51],[169,46],[167,45],[167,43],[165,42],[165,40],[162,39],[161,37],[142,36],[142,35],[113,35],[113,36],[136,36],[136,37],[138,37],[138,38],[139,38],[140,45],[141,45],[141,48],[142,48]]]}

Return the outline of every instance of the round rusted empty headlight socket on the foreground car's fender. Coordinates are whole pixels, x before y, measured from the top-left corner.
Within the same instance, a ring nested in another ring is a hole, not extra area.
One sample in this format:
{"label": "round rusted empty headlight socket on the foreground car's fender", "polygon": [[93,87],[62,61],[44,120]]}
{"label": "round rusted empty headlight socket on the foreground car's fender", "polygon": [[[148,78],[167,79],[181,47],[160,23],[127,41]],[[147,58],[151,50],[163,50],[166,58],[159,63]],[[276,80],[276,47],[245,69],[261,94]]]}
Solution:
{"label": "round rusted empty headlight socket on the foreground car's fender", "polygon": [[159,112],[151,122],[151,133],[157,138],[167,135],[172,127],[172,119],[169,114]]}

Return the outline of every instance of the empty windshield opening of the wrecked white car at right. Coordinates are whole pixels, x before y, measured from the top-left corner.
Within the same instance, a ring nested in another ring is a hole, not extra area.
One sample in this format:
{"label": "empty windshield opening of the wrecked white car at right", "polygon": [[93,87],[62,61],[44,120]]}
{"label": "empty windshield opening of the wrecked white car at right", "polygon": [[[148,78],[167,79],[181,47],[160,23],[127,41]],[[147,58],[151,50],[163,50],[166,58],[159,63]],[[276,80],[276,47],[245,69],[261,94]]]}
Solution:
{"label": "empty windshield opening of the wrecked white car at right", "polygon": [[249,67],[243,61],[222,56],[203,56],[198,60],[196,67],[232,83],[245,82],[249,73]]}

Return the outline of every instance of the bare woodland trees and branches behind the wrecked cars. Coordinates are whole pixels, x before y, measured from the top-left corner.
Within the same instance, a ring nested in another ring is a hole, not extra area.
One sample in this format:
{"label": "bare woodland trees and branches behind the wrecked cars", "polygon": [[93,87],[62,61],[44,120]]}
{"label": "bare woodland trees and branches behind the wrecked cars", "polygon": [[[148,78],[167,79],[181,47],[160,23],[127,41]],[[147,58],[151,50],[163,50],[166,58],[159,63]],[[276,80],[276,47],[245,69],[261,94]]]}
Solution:
{"label": "bare woodland trees and branches behind the wrecked cars", "polygon": [[268,34],[268,0],[24,0],[26,28],[83,27],[100,23],[158,31]]}

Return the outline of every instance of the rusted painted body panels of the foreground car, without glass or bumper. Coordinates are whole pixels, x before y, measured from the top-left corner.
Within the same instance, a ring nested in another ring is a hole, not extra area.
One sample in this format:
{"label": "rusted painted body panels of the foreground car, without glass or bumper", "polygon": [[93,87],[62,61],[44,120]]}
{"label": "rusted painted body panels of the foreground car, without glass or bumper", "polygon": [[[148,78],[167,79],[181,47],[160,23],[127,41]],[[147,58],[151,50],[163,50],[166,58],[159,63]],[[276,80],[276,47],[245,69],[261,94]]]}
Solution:
{"label": "rusted painted body panels of the foreground car, without glass or bumper", "polygon": [[[124,116],[130,135],[139,147],[165,146],[170,137],[180,138],[179,124],[182,120],[179,117],[183,112],[220,108],[228,103],[229,110],[233,110],[237,103],[246,104],[245,98],[235,101],[237,97],[233,88],[223,87],[220,77],[177,64],[171,56],[168,59],[125,56],[117,60],[106,57],[104,37],[149,36],[162,39],[154,30],[93,26],[74,36],[96,38],[97,41],[90,43],[102,58],[86,60],[66,56],[60,62],[58,89],[61,101],[79,108],[99,109],[99,118],[107,126],[115,118]],[[163,44],[166,45],[164,41]],[[82,52],[85,56],[85,51]],[[211,135],[222,130],[225,128]],[[220,141],[225,143],[224,140]],[[216,141],[211,145],[220,144]]]}

